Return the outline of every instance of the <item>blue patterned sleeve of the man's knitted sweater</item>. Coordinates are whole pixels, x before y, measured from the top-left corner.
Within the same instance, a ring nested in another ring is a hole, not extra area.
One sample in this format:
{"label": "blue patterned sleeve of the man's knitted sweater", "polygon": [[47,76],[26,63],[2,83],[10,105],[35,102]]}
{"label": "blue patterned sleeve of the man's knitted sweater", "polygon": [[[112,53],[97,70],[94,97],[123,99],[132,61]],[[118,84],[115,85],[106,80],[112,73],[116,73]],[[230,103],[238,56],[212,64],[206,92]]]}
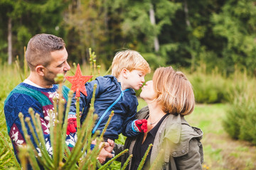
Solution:
{"label": "blue patterned sleeve of the man's knitted sweater", "polygon": [[[43,136],[46,140],[46,146],[48,149],[48,153],[52,154],[52,148],[50,147],[50,131],[47,126],[47,123],[44,118],[44,114],[42,111],[41,103],[36,101],[35,98],[32,98],[31,96],[27,96],[26,94],[12,94],[5,102],[4,104],[4,113],[6,116],[6,124],[8,127],[9,136],[11,138],[11,142],[14,145],[14,152],[17,157],[17,151],[18,147],[23,145],[25,142],[25,137],[23,130],[21,128],[21,121],[18,118],[18,114],[21,112],[24,115],[25,118],[31,118],[31,115],[28,113],[28,108],[33,108],[35,113],[38,113],[40,115],[41,120],[41,127],[43,129]],[[32,123],[32,120],[31,120]],[[28,128],[27,123],[25,123],[26,129],[28,130],[28,135],[31,137],[31,141],[33,142],[33,145],[36,147],[38,152],[40,153],[40,150],[38,149],[35,139],[33,139],[32,133]],[[35,129],[33,123],[32,123],[33,129]]]}

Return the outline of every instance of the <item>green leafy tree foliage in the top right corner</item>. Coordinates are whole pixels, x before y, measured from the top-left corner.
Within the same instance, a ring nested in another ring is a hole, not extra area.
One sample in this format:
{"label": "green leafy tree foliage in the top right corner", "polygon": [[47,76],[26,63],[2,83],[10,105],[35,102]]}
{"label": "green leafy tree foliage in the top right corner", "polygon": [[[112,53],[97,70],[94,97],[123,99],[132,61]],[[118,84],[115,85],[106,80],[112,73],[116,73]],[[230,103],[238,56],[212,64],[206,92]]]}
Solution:
{"label": "green leafy tree foliage in the top right corner", "polygon": [[238,67],[247,67],[250,72],[255,70],[255,62],[252,61],[256,55],[254,3],[227,1],[220,13],[213,13],[213,34],[225,42],[221,54],[225,67],[234,69],[237,64]]}

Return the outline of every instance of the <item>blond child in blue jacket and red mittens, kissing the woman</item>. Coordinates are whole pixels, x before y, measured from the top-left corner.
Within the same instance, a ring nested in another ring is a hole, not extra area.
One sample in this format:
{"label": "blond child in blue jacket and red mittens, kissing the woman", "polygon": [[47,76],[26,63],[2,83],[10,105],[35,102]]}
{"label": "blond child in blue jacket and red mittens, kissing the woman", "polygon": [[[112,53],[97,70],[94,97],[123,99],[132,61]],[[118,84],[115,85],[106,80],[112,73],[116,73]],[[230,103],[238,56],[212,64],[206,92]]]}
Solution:
{"label": "blond child in blue jacket and red mittens, kissing the woman", "polygon": [[[149,64],[139,52],[133,50],[117,52],[112,62],[112,75],[97,77],[94,81],[87,82],[85,84],[87,96],[80,93],[80,111],[83,110],[81,123],[90,108],[93,86],[97,84],[94,105],[98,119],[92,134],[96,130],[102,132],[111,111],[114,111],[114,116],[103,136],[105,141],[117,139],[121,132],[127,137],[144,132],[147,128],[146,120],[134,120],[138,106],[134,89],[139,90],[143,86],[144,77],[149,72]],[[75,113],[75,100],[70,106],[70,112]]]}

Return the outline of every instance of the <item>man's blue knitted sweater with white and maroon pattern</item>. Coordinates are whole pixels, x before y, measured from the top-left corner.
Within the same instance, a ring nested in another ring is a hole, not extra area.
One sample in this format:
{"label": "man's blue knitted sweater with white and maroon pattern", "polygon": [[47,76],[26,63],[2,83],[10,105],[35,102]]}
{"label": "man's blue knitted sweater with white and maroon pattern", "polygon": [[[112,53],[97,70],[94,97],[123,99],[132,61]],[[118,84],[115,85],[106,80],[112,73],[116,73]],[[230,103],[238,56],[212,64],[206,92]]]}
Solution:
{"label": "man's blue knitted sweater with white and maroon pattern", "polygon": [[[52,154],[52,147],[50,146],[49,111],[54,110],[53,97],[56,96],[58,98],[58,93],[56,92],[57,89],[58,85],[53,85],[53,87],[49,89],[41,89],[36,86],[21,83],[11,91],[9,96],[7,96],[4,103],[4,114],[6,117],[8,133],[11,138],[12,145],[14,146],[14,152],[17,159],[18,147],[26,143],[24,140],[23,130],[21,129],[21,122],[18,118],[18,113],[23,113],[24,118],[31,117],[28,113],[28,108],[33,108],[35,113],[40,115],[43,135],[46,140],[46,147],[48,149],[48,153],[50,155]],[[65,101],[68,100],[69,90],[70,89],[68,89],[68,87],[63,86],[63,98]],[[29,129],[27,125],[26,128]],[[33,145],[38,149],[30,130],[28,130],[28,135],[31,136]],[[68,136],[66,139],[66,143],[70,146],[75,145],[72,135],[73,134]],[[40,152],[40,149],[38,149],[38,152]]]}

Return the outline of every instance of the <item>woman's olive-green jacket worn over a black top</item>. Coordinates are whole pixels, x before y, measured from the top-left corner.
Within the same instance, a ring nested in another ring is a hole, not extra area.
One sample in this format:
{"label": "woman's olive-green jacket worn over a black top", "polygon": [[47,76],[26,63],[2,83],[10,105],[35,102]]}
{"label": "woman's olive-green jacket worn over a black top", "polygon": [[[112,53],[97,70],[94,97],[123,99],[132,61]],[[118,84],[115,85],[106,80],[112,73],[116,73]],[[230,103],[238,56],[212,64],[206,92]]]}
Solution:
{"label": "woman's olive-green jacket worn over a black top", "polygon": [[[148,116],[149,108],[147,106],[137,113],[137,119],[144,119]],[[199,128],[188,125],[183,116],[169,114],[156,132],[150,156],[150,166],[157,167],[154,169],[166,170],[202,169],[203,146],[200,142],[202,137],[203,132]],[[114,145],[115,154],[129,149],[129,152],[121,157],[122,166],[129,154],[132,154],[136,139],[137,137],[127,137],[124,145]],[[130,169],[130,164],[132,162],[129,163],[127,169]]]}

